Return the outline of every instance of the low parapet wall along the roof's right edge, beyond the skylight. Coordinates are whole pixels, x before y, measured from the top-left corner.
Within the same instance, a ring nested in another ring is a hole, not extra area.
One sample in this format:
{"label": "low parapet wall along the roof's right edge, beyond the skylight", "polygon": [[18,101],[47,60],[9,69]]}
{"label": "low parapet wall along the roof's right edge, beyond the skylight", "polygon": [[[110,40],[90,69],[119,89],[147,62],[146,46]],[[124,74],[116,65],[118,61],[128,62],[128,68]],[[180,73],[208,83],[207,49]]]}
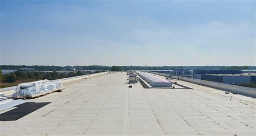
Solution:
{"label": "low parapet wall along the roof's right edge, beyond the skylight", "polygon": [[[157,73],[157,72],[150,72],[150,73],[158,74],[160,76],[165,76],[165,77],[169,76],[169,74],[165,74],[165,73]],[[229,85],[229,84],[217,83],[214,81],[206,81],[206,80],[187,78],[187,77],[181,77],[181,76],[173,76],[173,78],[187,81],[187,82],[194,83],[194,84],[198,84],[198,85],[212,87],[212,88],[218,89],[218,90],[223,90],[223,91],[227,91],[227,92],[236,92],[243,96],[256,98],[256,89],[253,89],[250,87]]]}

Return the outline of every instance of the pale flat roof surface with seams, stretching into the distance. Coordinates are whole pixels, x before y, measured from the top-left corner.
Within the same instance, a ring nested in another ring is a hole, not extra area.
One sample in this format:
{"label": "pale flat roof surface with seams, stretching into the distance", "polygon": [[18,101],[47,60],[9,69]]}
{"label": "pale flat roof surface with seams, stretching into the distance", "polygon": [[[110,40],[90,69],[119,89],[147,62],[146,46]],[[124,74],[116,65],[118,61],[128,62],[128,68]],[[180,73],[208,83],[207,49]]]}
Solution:
{"label": "pale flat roof surface with seams, stretching into the distance", "polygon": [[0,121],[1,135],[255,135],[254,98],[180,80],[173,81],[192,89],[146,89],[126,79],[117,72],[78,80],[2,111],[2,119],[29,114]]}

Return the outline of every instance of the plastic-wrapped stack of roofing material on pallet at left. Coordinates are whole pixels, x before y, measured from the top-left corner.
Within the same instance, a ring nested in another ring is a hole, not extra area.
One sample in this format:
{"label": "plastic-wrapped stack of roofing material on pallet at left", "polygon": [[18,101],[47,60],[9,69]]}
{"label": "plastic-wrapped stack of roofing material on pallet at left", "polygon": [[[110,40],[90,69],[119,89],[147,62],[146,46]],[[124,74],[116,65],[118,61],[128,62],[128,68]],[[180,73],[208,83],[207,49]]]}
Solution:
{"label": "plastic-wrapped stack of roofing material on pallet at left", "polygon": [[63,90],[64,86],[62,81],[39,80],[30,83],[19,84],[12,98],[33,98],[41,96],[52,91]]}

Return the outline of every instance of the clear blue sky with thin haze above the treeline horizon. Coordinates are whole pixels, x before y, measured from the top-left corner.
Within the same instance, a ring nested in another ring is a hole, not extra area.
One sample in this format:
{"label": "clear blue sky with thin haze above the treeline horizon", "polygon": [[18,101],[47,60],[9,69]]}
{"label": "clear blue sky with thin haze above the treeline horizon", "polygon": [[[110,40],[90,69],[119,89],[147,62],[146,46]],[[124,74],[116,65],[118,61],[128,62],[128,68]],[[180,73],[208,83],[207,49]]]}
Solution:
{"label": "clear blue sky with thin haze above the treeline horizon", "polygon": [[256,65],[255,1],[0,2],[2,65]]}

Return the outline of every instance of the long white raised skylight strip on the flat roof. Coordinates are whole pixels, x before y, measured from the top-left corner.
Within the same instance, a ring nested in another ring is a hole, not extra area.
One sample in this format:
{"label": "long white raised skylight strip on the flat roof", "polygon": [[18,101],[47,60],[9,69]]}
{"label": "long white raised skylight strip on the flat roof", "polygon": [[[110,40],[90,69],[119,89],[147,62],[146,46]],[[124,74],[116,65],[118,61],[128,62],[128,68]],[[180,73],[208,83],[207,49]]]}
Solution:
{"label": "long white raised skylight strip on the flat roof", "polygon": [[136,73],[153,87],[172,87],[172,83],[165,79],[161,79],[159,77],[152,76],[152,74],[141,71],[136,71]]}

